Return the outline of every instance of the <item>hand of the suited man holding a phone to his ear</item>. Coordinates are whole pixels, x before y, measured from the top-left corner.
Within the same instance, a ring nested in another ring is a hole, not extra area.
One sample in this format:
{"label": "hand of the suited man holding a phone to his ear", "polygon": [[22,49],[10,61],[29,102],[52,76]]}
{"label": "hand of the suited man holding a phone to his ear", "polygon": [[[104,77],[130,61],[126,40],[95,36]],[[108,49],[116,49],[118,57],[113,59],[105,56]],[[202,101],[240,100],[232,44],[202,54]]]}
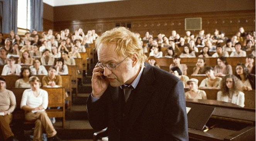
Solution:
{"label": "hand of the suited man holding a phone to his ear", "polygon": [[109,81],[102,78],[103,71],[96,65],[92,72],[92,96],[96,98],[101,97],[109,86]]}

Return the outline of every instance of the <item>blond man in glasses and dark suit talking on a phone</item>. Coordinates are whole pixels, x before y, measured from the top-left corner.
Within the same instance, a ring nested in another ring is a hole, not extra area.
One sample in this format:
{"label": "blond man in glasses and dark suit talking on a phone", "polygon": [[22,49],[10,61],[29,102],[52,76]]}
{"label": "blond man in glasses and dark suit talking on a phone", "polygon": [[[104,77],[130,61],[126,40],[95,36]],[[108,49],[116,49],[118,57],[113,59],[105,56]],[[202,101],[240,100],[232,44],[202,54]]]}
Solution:
{"label": "blond man in glasses and dark suit talking on a phone", "polygon": [[[147,63],[136,35],[118,27],[96,39],[87,100],[91,126],[111,141],[188,140],[183,83]],[[128,88],[127,88],[128,87]]]}

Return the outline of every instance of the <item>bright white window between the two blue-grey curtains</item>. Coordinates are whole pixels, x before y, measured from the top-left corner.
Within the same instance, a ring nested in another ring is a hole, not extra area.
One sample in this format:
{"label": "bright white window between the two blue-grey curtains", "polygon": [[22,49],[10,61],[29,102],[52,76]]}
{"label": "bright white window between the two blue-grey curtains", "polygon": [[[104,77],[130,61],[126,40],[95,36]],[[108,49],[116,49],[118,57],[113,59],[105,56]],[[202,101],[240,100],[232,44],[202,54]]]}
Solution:
{"label": "bright white window between the two blue-grey curtains", "polygon": [[17,27],[30,29],[30,0],[18,0]]}

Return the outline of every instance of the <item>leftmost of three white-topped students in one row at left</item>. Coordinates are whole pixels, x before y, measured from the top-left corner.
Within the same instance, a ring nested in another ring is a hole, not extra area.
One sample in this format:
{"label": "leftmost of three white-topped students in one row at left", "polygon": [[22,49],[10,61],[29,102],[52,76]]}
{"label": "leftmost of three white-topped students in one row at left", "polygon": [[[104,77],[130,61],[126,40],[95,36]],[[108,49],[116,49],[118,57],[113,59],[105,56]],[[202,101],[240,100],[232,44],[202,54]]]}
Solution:
{"label": "leftmost of three white-topped students in one row at left", "polygon": [[15,64],[15,58],[10,56],[8,59],[8,64],[3,66],[2,76],[7,75],[20,75],[20,64]]}

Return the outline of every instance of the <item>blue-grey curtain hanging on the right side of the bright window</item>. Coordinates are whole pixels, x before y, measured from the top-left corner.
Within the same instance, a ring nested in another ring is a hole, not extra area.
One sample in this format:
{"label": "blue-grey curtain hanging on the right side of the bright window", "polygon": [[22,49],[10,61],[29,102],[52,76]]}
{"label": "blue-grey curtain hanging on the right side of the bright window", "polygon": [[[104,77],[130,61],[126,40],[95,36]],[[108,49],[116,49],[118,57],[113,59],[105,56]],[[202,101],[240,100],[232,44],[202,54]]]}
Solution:
{"label": "blue-grey curtain hanging on the right side of the bright window", "polygon": [[42,31],[43,9],[44,6],[42,0],[30,0],[31,32],[33,29]]}

